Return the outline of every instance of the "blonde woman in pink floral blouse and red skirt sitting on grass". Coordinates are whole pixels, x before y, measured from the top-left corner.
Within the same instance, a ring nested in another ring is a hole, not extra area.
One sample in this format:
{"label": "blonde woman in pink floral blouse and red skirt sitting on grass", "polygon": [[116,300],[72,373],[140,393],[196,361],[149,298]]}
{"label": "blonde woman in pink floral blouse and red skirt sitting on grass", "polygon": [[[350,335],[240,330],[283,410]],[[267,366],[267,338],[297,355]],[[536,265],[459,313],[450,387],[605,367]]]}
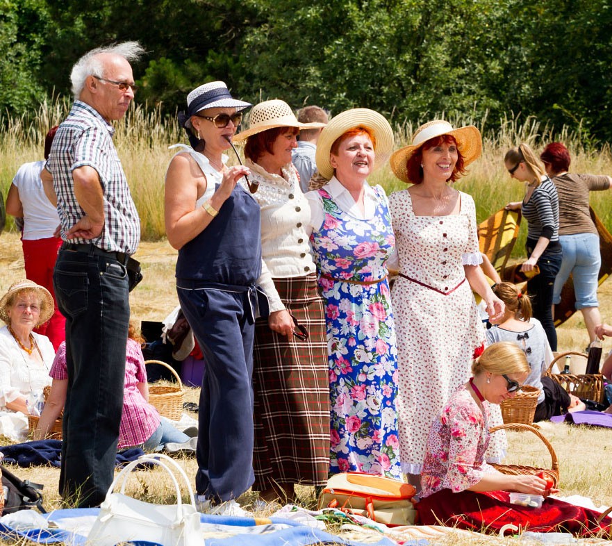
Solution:
{"label": "blonde woman in pink floral blouse and red skirt sitting on grass", "polygon": [[515,396],[529,374],[524,352],[513,342],[490,345],[472,364],[474,377],[458,388],[433,422],[423,463],[424,525],[499,530],[512,523],[530,531],[593,533],[608,529],[611,518],[597,524],[599,513],[555,499],[541,508],[510,504],[509,491],[529,495],[557,493],[540,477],[502,474],[484,462],[490,432],[490,404]]}

